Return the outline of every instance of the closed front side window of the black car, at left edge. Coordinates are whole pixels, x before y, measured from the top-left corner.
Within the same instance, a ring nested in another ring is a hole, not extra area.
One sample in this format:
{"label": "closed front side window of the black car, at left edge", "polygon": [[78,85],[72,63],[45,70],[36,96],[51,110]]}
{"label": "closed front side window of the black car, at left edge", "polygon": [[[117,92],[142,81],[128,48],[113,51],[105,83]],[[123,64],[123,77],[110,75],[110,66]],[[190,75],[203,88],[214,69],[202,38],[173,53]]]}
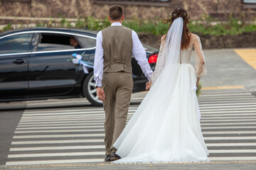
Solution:
{"label": "closed front side window of the black car, at left edge", "polygon": [[32,36],[33,33],[23,33],[0,39],[0,54],[28,52]]}

